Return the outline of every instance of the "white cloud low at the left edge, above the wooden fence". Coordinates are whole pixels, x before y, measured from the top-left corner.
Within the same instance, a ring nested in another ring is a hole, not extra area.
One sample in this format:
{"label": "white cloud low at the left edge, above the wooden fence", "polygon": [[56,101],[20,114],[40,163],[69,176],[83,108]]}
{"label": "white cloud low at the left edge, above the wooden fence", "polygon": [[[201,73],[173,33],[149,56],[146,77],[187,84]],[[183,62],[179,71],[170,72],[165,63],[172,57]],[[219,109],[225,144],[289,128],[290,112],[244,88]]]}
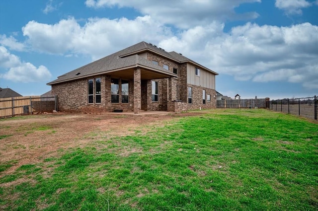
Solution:
{"label": "white cloud low at the left edge, above the wooden fence", "polygon": [[21,62],[17,56],[10,54],[3,46],[0,46],[0,67],[9,69],[1,74],[1,77],[14,82],[47,81],[52,76],[46,67],[41,65],[36,68],[31,63]]}

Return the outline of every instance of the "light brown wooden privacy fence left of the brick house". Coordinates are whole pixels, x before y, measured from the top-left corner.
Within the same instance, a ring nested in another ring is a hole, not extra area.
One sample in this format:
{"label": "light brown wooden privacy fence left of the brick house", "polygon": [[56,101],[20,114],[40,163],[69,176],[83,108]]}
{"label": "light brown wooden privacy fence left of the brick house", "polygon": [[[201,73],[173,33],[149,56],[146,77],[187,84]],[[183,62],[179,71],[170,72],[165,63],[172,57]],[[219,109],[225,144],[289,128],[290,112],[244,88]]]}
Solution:
{"label": "light brown wooden privacy fence left of the brick house", "polygon": [[0,118],[58,111],[57,97],[27,96],[0,99]]}

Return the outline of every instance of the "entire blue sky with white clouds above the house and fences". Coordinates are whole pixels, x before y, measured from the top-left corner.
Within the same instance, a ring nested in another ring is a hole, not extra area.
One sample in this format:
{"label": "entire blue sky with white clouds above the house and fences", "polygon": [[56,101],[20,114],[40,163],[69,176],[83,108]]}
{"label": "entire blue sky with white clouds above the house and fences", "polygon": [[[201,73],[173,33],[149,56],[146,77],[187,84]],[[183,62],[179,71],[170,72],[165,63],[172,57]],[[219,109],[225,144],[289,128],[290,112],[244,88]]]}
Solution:
{"label": "entire blue sky with white clouds above the house and fences", "polygon": [[223,95],[318,95],[318,0],[0,0],[0,87],[57,76],[146,41],[219,73]]}

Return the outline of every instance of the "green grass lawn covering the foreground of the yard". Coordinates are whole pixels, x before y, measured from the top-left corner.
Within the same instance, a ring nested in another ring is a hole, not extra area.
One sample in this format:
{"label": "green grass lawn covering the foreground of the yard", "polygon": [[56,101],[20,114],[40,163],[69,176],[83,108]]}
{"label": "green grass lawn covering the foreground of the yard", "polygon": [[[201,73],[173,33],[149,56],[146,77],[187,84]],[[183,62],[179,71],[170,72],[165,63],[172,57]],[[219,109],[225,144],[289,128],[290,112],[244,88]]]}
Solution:
{"label": "green grass lawn covering the foreground of the yard", "polygon": [[[87,132],[76,138],[85,145],[0,174],[0,210],[318,210],[317,123],[263,109],[164,121],[127,136]],[[3,125],[1,144],[14,137]],[[0,163],[0,172],[15,162]]]}

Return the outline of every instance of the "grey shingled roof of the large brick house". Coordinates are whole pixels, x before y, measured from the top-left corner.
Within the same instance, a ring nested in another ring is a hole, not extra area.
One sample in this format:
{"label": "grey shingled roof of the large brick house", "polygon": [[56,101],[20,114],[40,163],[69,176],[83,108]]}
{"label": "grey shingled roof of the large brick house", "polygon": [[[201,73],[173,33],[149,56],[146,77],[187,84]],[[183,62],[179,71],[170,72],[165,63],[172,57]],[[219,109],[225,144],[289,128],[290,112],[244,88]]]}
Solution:
{"label": "grey shingled roof of the large brick house", "polygon": [[[47,84],[52,85],[55,83],[60,83],[60,82],[65,82],[69,80],[89,77],[89,76],[98,75],[98,74],[105,74],[105,73],[110,73],[110,72],[114,72],[118,70],[124,70],[124,69],[135,68],[135,67],[144,67],[149,70],[154,70],[157,72],[164,73],[166,75],[177,76],[176,74],[168,70],[165,70],[158,65],[153,64],[152,61],[149,61],[137,55],[138,53],[143,53],[146,51],[159,54],[163,57],[166,57],[168,59],[171,59],[179,63],[182,63],[182,62],[194,63],[193,61],[187,59],[186,57],[181,56],[180,54],[176,52],[168,53],[164,49],[158,48],[153,44],[140,42],[133,46],[125,48],[121,51],[118,51],[114,54],[101,58],[95,62],[89,63],[76,70],[70,71],[64,75],[58,76],[56,80],[53,80]],[[176,54],[178,54],[179,56],[177,56]],[[200,67],[203,67],[199,64],[197,65]],[[209,70],[207,68],[204,68],[204,69]],[[212,70],[209,70],[209,71],[213,72],[214,74],[218,74]]]}

